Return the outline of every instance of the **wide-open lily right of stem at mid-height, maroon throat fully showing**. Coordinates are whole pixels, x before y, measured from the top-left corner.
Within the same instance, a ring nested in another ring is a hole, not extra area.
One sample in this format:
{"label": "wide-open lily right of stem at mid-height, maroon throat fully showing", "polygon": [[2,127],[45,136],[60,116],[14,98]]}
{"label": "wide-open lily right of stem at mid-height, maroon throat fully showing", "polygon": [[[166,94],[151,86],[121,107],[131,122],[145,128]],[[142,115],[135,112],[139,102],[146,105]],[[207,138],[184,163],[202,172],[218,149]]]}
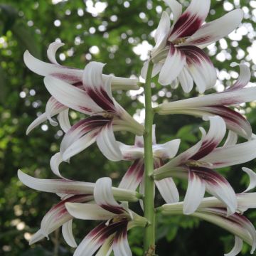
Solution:
{"label": "wide-open lily right of stem at mid-height, maroon throat fully showing", "polygon": [[209,117],[208,134],[201,129],[200,142],[171,159],[167,164],[154,171],[154,178],[188,178],[188,189],[184,198],[184,214],[193,213],[205,191],[223,201],[228,214],[235,213],[237,201],[230,183],[213,169],[242,164],[256,157],[256,140],[241,144],[217,147],[225,136],[225,122],[221,117]]}

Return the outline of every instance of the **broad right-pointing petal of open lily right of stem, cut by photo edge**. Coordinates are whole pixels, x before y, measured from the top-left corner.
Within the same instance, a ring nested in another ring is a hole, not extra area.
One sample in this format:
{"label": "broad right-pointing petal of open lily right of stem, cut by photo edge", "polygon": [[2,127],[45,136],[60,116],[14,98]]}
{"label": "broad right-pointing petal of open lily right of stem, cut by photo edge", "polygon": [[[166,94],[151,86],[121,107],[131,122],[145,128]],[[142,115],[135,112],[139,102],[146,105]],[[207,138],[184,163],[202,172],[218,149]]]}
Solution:
{"label": "broad right-pointing petal of open lily right of stem, cut by photo edge", "polygon": [[208,156],[203,157],[201,161],[213,164],[213,169],[246,163],[247,161],[255,159],[255,147],[255,140],[234,146],[223,146],[214,149]]}

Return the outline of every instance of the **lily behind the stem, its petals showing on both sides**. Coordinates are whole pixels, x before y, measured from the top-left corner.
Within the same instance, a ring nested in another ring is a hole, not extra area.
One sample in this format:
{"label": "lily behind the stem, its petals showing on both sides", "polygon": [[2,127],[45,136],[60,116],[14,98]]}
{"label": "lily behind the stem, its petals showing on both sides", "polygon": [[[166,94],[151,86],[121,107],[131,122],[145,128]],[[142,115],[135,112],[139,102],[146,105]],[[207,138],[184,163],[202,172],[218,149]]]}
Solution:
{"label": "lily behind the stem, its petals showing on both sides", "polygon": [[[180,139],[174,139],[165,144],[156,144],[155,126],[152,132],[154,168],[157,169],[163,165],[165,159],[172,159],[176,156]],[[140,185],[140,191],[144,192],[144,140],[143,137],[136,136],[134,146],[129,146],[117,142],[122,152],[124,160],[133,161],[132,165],[123,176],[119,183],[119,188],[125,188],[136,191]],[[155,181],[161,196],[166,203],[178,202],[178,189],[172,178],[164,178],[161,181]]]}

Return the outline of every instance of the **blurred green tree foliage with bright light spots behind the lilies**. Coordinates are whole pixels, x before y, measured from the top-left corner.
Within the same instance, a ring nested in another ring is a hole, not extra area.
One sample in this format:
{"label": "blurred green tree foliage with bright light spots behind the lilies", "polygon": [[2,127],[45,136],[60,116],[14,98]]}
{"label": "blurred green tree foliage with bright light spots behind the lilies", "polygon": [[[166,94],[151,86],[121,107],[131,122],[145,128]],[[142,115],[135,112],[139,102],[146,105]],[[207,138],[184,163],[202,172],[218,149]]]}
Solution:
{"label": "blurred green tree foliage with bright light spots behind the lilies", "polygon": [[[181,0],[184,6],[189,1]],[[163,1],[152,0],[8,0],[0,1],[0,255],[72,255],[73,249],[65,244],[59,231],[50,235],[50,240],[41,240],[29,246],[31,234],[40,228],[43,215],[58,196],[26,188],[18,181],[19,168],[38,178],[55,178],[50,171],[50,156],[58,151],[63,132],[48,122],[26,136],[26,128],[39,114],[44,112],[49,94],[43,85],[43,77],[32,73],[23,63],[23,53],[28,49],[41,60],[48,61],[48,45],[60,40],[65,43],[58,51],[60,64],[84,68],[90,60],[107,63],[104,73],[118,76],[139,76],[142,60],[147,50],[154,45],[152,31],[166,9]],[[209,46],[206,51],[216,68],[218,83],[214,90],[223,90],[238,78],[238,68],[230,63],[246,62],[252,71],[251,82],[255,82],[256,43],[255,21],[256,1],[233,0],[211,1],[207,21],[223,16],[227,11],[242,8],[245,18],[242,25],[225,39]],[[221,28],[220,28],[221,29]],[[161,87],[155,81],[152,100],[177,100],[183,95],[180,87]],[[192,95],[196,95],[193,90]],[[117,91],[118,102],[137,119],[142,119],[143,92]],[[246,113],[256,131],[255,102],[242,105],[240,112]],[[72,122],[82,115],[70,112]],[[208,127],[201,119],[175,115],[156,116],[156,137],[159,143],[180,138],[180,151],[195,144],[200,137],[198,127]],[[119,133],[117,138],[127,144],[134,142],[128,133]],[[129,166],[128,162],[114,163],[105,159],[97,149],[90,149],[62,164],[63,175],[80,181],[95,182],[102,176],[110,176],[114,184]],[[244,165],[245,166],[245,165]],[[255,161],[246,164],[255,169]],[[241,166],[222,169],[228,181],[241,192],[248,181]],[[177,181],[181,196],[186,182]],[[159,204],[163,203],[160,197]],[[133,208],[139,210],[138,205]],[[247,216],[256,225],[256,211]],[[201,222],[189,216],[158,218],[158,255],[223,255],[233,247],[233,235],[220,228]],[[77,242],[95,225],[90,221],[75,220],[73,230]],[[143,231],[130,231],[129,242],[134,255],[142,255]],[[244,245],[243,255],[250,255],[250,247]]]}

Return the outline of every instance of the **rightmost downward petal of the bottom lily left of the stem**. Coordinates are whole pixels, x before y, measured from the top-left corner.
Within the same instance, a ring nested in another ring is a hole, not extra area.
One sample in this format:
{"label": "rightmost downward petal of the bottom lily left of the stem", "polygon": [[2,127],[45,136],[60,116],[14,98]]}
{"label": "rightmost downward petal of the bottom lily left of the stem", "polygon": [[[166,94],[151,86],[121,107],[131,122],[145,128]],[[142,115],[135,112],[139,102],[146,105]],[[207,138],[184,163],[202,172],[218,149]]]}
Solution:
{"label": "rightmost downward petal of the bottom lily left of the stem", "polygon": [[132,251],[127,240],[127,230],[120,230],[114,236],[114,256],[132,256]]}

